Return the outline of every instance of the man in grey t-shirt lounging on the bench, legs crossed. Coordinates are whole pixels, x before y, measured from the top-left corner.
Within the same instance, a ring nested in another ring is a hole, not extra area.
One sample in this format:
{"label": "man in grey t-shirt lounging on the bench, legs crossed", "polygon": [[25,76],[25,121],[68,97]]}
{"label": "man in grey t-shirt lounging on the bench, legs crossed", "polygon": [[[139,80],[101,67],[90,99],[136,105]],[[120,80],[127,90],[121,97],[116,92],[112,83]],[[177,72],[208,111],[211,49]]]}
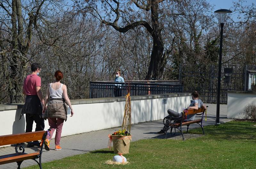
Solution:
{"label": "man in grey t-shirt lounging on the bench, legs crossed", "polygon": [[[196,92],[196,91],[192,92],[192,99],[193,99],[193,101],[190,103],[190,105],[188,106],[187,109],[196,109],[197,110],[200,107],[203,107],[204,109],[206,109],[206,106],[204,105],[203,101],[199,99],[198,92]],[[167,113],[169,114],[169,117],[171,117],[171,118],[173,117],[173,119],[177,119],[178,117],[182,116],[182,113],[175,112],[175,111],[173,111],[171,109],[168,109]],[[195,117],[196,117],[196,114],[188,115],[187,119],[185,119],[184,122],[185,121],[192,121],[192,120],[195,119]],[[177,121],[177,122],[180,122],[180,121]],[[164,128],[161,129],[160,131],[158,131],[157,133],[165,134],[166,130],[167,130],[166,126],[164,126]]]}

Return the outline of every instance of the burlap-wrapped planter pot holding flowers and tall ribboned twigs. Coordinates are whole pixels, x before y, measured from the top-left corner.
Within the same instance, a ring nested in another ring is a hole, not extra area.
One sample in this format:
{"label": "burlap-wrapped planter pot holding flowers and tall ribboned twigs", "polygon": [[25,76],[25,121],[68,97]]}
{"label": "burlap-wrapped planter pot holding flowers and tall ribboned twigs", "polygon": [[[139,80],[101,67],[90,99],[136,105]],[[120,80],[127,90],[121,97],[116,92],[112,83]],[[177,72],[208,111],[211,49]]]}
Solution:
{"label": "burlap-wrapped planter pot holding flowers and tall ribboned twigs", "polygon": [[111,136],[113,142],[114,153],[128,154],[130,148],[130,142],[132,141],[132,136],[122,136],[116,135]]}

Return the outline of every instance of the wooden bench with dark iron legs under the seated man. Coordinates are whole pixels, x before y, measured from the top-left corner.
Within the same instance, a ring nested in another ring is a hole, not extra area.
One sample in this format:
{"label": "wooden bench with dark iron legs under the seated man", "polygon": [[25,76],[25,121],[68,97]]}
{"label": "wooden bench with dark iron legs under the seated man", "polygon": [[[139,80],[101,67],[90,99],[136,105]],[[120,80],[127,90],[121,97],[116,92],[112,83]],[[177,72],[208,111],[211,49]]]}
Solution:
{"label": "wooden bench with dark iron legs under the seated man", "polygon": [[[208,107],[208,106],[206,106]],[[171,129],[171,135],[175,135],[176,134],[176,129],[179,129],[180,132],[181,132],[181,135],[182,135],[182,138],[184,140],[184,136],[183,136],[183,133],[182,133],[182,126],[187,126],[187,133],[188,133],[188,127],[190,124],[193,124],[193,123],[197,123],[201,126],[202,130],[203,130],[203,134],[204,134],[204,128],[203,128],[203,117],[204,117],[204,113],[205,113],[205,110],[204,108],[199,108],[198,110],[196,109],[189,109],[188,112],[187,112],[187,115],[192,115],[192,114],[197,114],[197,115],[201,115],[202,114],[202,117],[201,119],[197,119],[197,120],[192,120],[192,121],[186,121],[184,122],[184,115],[182,116],[182,122],[170,122],[170,123],[166,123],[165,119],[164,119],[164,125],[166,127],[166,134],[165,134],[165,138],[167,137],[167,131],[169,129]],[[184,114],[184,112],[183,112]],[[168,121],[168,120],[167,120]],[[169,119],[170,121],[170,119]],[[174,128],[174,134],[172,134],[172,129]]]}

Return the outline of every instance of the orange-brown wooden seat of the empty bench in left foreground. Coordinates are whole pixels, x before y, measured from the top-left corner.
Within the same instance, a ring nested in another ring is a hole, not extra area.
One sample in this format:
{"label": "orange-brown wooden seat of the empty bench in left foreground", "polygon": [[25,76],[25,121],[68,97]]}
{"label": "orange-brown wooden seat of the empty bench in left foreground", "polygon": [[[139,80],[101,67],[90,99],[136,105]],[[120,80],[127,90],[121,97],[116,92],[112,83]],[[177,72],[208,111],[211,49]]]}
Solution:
{"label": "orange-brown wooden seat of the empty bench in left foreground", "polygon": [[17,161],[23,161],[23,160],[27,160],[27,159],[35,159],[36,156],[38,156],[40,153],[35,152],[35,153],[29,153],[29,154],[22,153],[22,155],[18,155],[18,154],[19,153],[9,154],[9,155],[13,155],[13,156],[12,157],[1,158],[0,159],[0,165],[13,163],[13,162],[17,162]]}

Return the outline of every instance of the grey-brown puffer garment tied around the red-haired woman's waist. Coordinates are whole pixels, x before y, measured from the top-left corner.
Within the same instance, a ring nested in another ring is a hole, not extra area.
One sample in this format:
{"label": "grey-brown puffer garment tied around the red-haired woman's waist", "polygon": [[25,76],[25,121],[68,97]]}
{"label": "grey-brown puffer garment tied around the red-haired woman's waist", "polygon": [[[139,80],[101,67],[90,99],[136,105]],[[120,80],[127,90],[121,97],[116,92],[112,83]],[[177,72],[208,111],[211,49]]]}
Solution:
{"label": "grey-brown puffer garment tied around the red-haired woman's waist", "polygon": [[48,99],[48,106],[44,113],[44,119],[46,118],[62,118],[67,121],[68,105],[64,98],[60,99]]}

